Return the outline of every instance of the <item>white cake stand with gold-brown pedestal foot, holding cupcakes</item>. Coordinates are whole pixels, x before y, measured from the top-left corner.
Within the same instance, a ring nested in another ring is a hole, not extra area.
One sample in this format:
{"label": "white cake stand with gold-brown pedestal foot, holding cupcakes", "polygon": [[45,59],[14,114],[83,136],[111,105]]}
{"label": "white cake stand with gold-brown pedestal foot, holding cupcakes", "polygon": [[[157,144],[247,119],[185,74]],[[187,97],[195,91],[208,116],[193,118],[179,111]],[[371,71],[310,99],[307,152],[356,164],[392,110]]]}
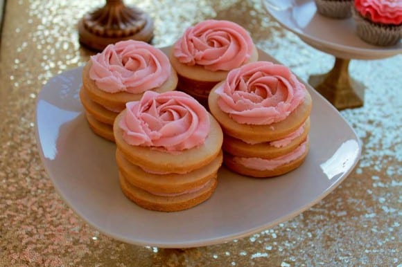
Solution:
{"label": "white cake stand with gold-brown pedestal foot, holding cupcakes", "polygon": [[313,0],[262,0],[265,9],[281,26],[306,44],[335,56],[329,73],[312,75],[308,82],[337,109],[361,107],[364,87],[349,75],[351,59],[382,59],[402,53],[402,43],[372,46],[356,35],[353,18],[331,19],[317,13]]}

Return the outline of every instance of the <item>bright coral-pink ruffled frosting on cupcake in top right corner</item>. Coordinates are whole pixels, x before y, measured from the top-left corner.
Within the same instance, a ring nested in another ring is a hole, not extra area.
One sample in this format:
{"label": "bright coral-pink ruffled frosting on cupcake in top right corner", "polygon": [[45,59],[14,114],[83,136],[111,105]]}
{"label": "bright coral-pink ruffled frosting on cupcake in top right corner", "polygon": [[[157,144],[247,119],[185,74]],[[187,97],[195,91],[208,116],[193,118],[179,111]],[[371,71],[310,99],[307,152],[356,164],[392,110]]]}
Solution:
{"label": "bright coral-pink ruffled frosting on cupcake in top right corner", "polygon": [[402,24],[402,0],[356,0],[356,10],[380,24]]}

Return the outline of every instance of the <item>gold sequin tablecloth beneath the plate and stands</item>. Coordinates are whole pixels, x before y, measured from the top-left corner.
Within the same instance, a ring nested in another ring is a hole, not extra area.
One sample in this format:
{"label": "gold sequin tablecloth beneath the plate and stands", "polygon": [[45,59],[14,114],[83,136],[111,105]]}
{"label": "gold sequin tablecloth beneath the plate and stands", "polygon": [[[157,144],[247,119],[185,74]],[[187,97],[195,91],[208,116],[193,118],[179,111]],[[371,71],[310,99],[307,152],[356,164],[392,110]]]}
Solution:
{"label": "gold sequin tablecloth beneath the plate and stands", "polygon": [[[365,105],[341,115],[363,143],[342,184],[299,216],[219,245],[134,246],[100,234],[60,199],[35,141],[35,100],[46,82],[93,53],[78,20],[104,1],[6,1],[0,50],[0,266],[401,266],[402,55],[352,60]],[[125,1],[155,20],[155,46],[203,19],[229,19],[299,77],[326,73],[334,57],[304,44],[258,0]]]}

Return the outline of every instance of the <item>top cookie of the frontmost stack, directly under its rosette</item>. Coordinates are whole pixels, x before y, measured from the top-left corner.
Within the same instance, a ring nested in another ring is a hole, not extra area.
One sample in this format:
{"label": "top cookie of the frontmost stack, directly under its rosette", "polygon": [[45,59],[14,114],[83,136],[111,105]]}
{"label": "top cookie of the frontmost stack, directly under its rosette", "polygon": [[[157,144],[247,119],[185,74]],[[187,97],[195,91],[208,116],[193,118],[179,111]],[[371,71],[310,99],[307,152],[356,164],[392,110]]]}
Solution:
{"label": "top cookie of the frontmost stack, directly under its rosette", "polygon": [[120,120],[125,116],[122,111],[114,120],[114,137],[116,145],[125,158],[143,169],[151,169],[159,173],[191,172],[211,163],[218,156],[222,147],[223,133],[218,122],[210,116],[210,131],[203,145],[170,154],[155,147],[129,145],[123,139],[123,130],[119,127]]}

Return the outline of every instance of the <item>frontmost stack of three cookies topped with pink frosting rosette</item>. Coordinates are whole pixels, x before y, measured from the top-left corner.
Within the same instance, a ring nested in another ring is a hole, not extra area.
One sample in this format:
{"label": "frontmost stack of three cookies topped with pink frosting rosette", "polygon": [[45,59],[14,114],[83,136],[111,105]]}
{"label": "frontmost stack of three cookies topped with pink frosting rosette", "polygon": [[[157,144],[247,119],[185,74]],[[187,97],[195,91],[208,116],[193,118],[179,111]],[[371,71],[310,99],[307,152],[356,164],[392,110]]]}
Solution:
{"label": "frontmost stack of three cookies topped with pink frosting rosette", "polygon": [[114,121],[121,190],[148,210],[207,201],[222,164],[222,129],[190,95],[146,91]]}

